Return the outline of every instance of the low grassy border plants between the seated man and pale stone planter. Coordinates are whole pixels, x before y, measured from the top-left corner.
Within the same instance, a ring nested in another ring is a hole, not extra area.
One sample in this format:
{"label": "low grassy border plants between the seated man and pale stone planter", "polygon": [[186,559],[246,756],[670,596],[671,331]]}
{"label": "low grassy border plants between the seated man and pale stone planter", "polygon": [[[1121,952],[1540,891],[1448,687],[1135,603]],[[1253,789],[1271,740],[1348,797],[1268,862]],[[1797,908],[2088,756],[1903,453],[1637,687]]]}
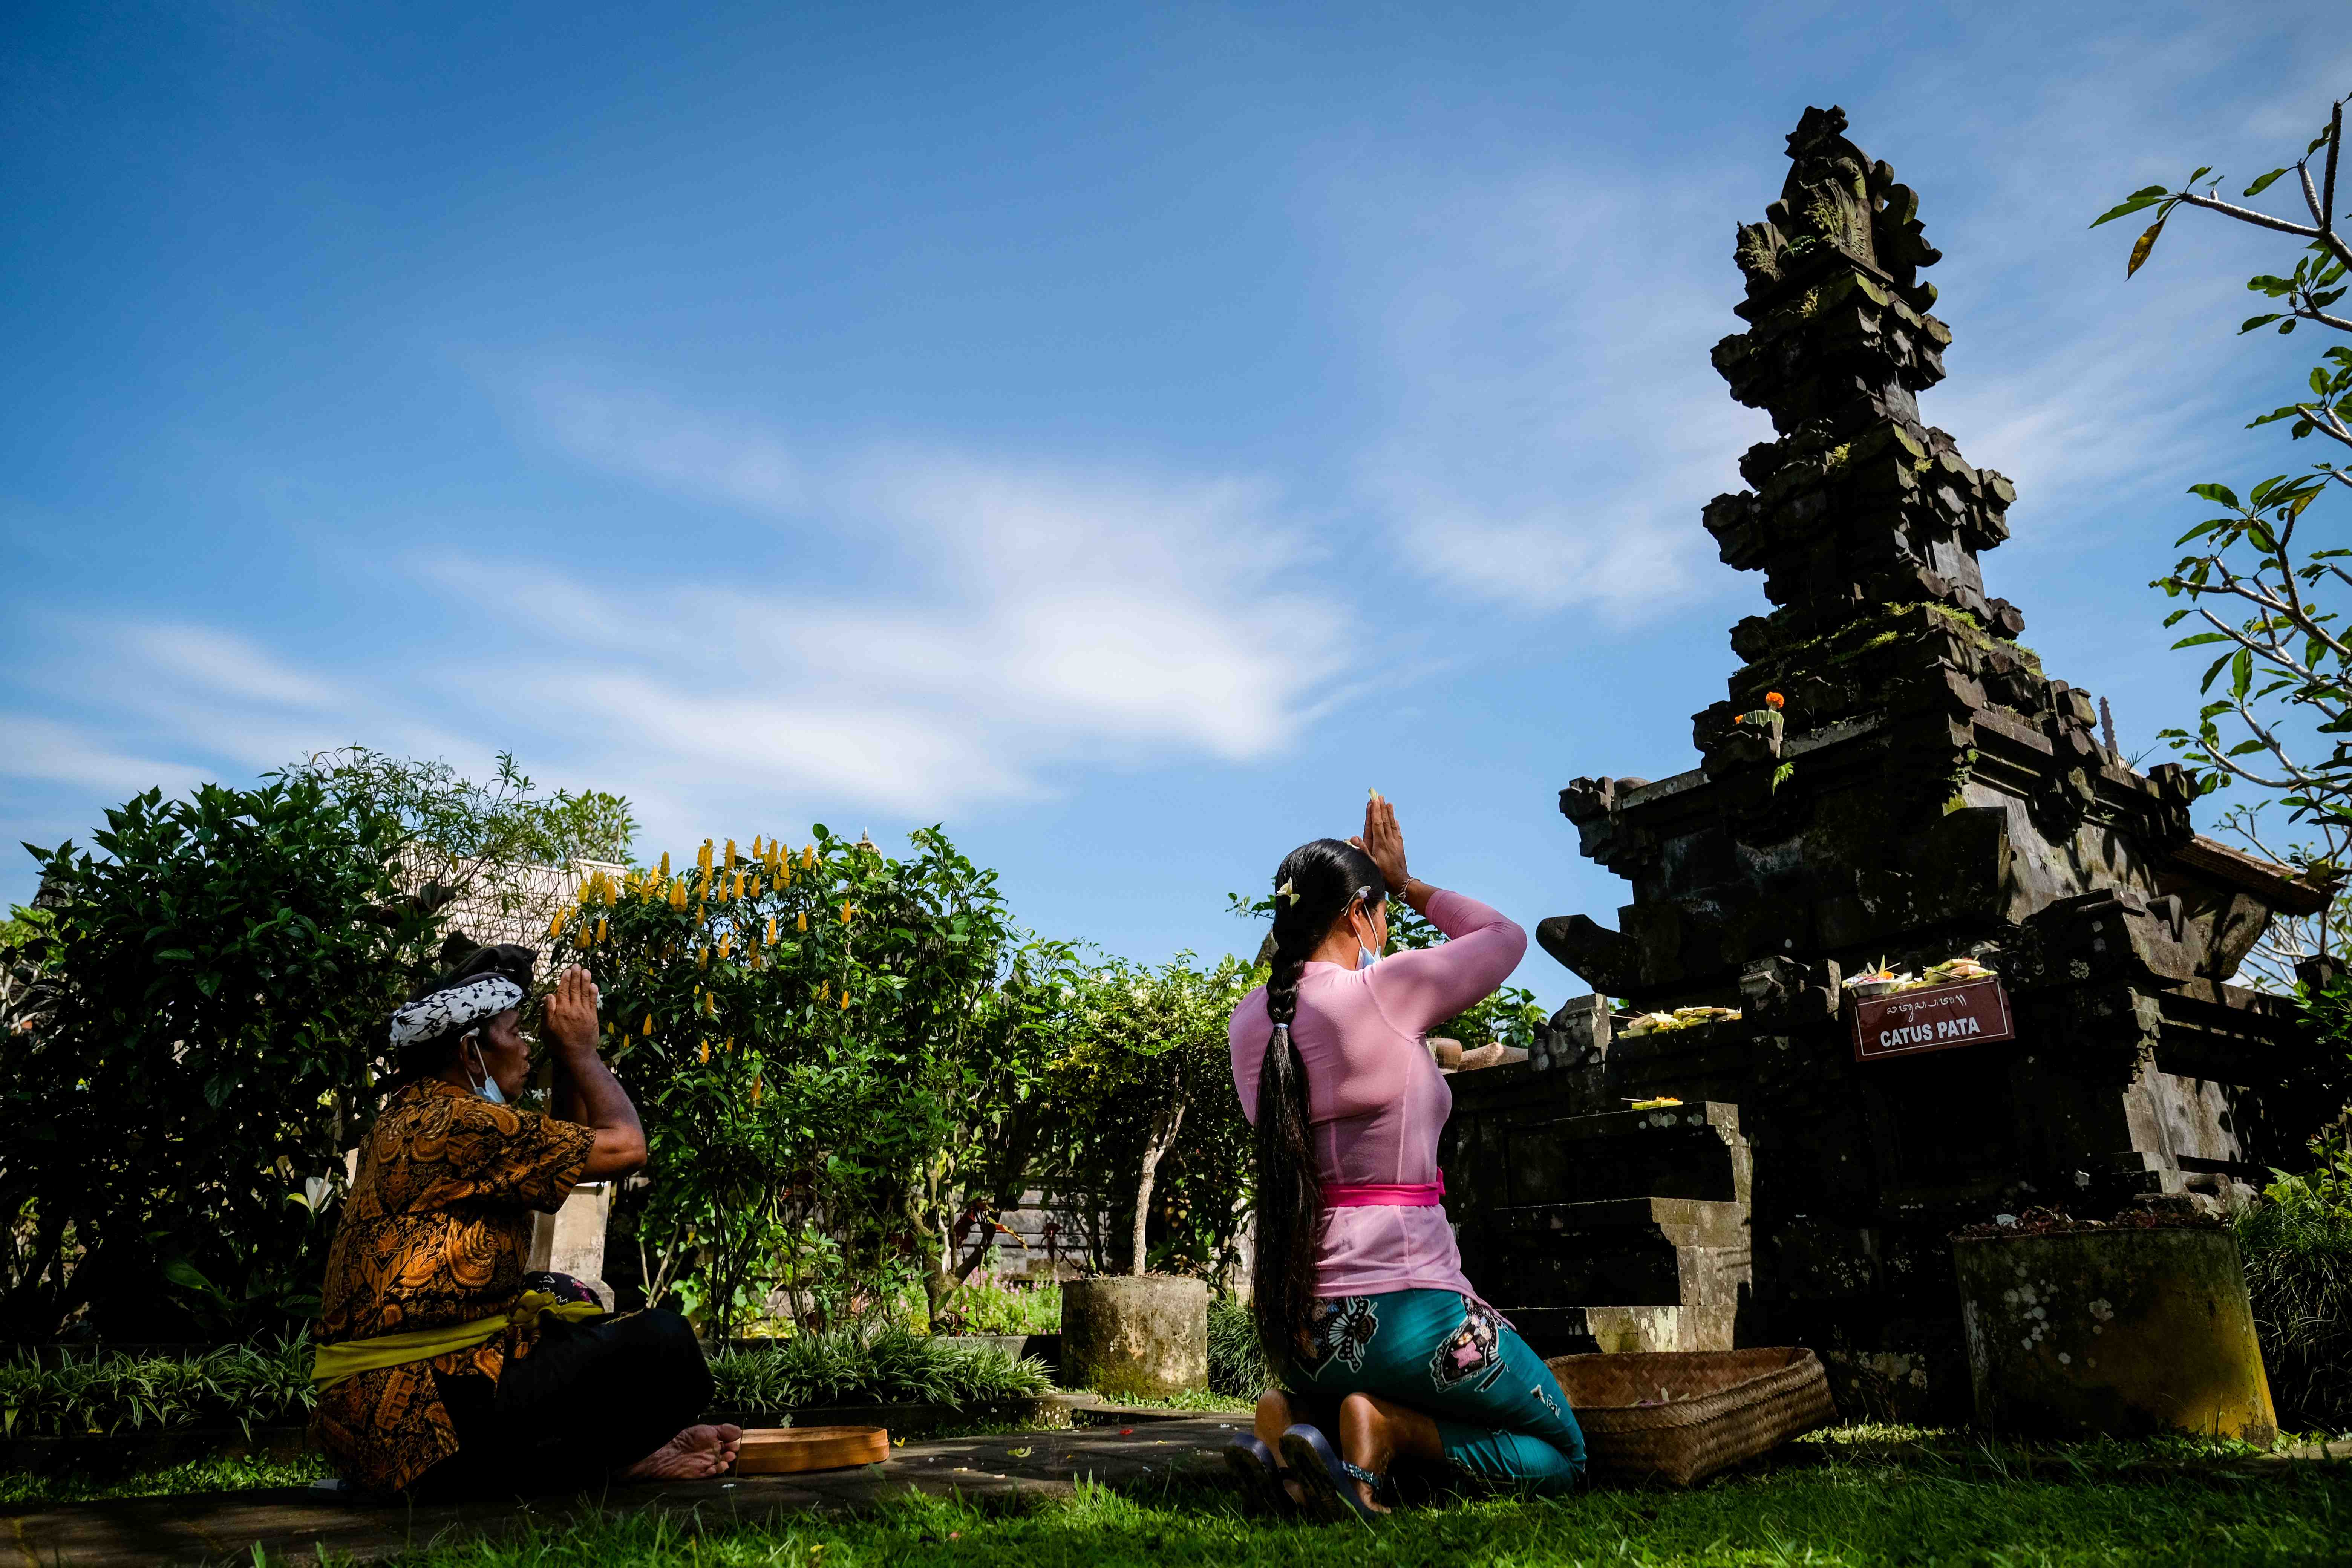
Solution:
{"label": "low grassy border plants between the seated man and pale stone planter", "polygon": [[955,1345],[906,1328],[873,1340],[809,1333],[762,1349],[727,1349],[710,1361],[713,1408],[795,1410],[802,1406],[941,1403],[974,1406],[1047,1394],[1054,1378],[1035,1356],[993,1345]]}

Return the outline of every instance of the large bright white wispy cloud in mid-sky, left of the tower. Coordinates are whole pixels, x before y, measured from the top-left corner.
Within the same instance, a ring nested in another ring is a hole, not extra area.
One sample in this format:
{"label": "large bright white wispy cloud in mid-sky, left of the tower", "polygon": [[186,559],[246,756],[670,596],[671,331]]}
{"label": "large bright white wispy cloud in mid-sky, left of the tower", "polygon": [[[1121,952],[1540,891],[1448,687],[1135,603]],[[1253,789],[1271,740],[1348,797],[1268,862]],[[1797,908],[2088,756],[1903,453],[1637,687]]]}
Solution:
{"label": "large bright white wispy cloud in mid-sky, left of the tower", "polygon": [[941,816],[1049,792],[1073,757],[1268,757],[1345,670],[1345,609],[1282,588],[1315,543],[1256,480],[910,444],[821,458],[600,383],[539,381],[529,409],[586,463],[807,545],[717,583],[633,574],[659,616],[546,564],[419,567],[477,602],[499,583],[534,722],[560,712],[609,788]]}

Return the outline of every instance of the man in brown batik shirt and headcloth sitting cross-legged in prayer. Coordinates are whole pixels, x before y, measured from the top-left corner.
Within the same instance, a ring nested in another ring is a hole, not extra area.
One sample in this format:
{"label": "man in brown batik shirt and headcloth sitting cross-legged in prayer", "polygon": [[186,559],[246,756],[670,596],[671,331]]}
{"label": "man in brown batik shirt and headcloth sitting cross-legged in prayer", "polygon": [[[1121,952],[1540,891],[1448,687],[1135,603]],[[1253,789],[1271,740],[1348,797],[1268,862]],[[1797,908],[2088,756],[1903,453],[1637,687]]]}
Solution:
{"label": "man in brown batik shirt and headcloth sitting cross-legged in prayer", "polygon": [[[482,947],[393,1013],[397,1079],[327,1253],[313,1434],[369,1490],[532,1493],[734,1462],[675,1312],[612,1316],[560,1274],[524,1276],[532,1211],[644,1164],[637,1107],[597,1056],[597,990],[546,1004],[555,1117],[517,1110],[529,947]],[[527,1288],[534,1286],[534,1288]],[[572,1300],[564,1300],[572,1298]]]}

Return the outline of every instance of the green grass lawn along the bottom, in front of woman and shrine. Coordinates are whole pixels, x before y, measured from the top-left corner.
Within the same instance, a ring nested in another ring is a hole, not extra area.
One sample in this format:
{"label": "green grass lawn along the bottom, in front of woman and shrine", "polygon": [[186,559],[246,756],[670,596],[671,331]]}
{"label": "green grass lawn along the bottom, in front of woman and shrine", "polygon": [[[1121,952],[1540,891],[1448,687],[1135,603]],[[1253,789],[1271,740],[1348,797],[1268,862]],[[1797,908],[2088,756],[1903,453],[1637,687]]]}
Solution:
{"label": "green grass lawn along the bottom, in front of woman and shrine", "polygon": [[423,1552],[430,1568],[593,1561],[901,1568],[920,1563],[2343,1563],[2352,1469],[2239,1474],[2190,1443],[1992,1448],[1846,1427],[1799,1462],[1686,1493],[1599,1488],[1564,1500],[1446,1500],[1378,1528],[1244,1514],[1216,1483],[1018,1507],[908,1497],[856,1521],[734,1523],[717,1512],[607,1519],[501,1544]]}

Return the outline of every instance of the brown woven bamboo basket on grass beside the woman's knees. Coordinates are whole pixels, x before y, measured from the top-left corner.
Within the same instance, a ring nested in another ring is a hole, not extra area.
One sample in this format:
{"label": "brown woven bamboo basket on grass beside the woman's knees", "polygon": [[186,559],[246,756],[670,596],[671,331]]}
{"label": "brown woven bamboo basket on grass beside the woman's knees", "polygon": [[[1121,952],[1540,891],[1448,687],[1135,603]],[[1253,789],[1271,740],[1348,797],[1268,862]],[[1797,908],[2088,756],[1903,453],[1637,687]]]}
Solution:
{"label": "brown woven bamboo basket on grass beside the woman's knees", "polygon": [[1809,1349],[1668,1349],[1545,1361],[1597,1469],[1689,1486],[1837,1420]]}

